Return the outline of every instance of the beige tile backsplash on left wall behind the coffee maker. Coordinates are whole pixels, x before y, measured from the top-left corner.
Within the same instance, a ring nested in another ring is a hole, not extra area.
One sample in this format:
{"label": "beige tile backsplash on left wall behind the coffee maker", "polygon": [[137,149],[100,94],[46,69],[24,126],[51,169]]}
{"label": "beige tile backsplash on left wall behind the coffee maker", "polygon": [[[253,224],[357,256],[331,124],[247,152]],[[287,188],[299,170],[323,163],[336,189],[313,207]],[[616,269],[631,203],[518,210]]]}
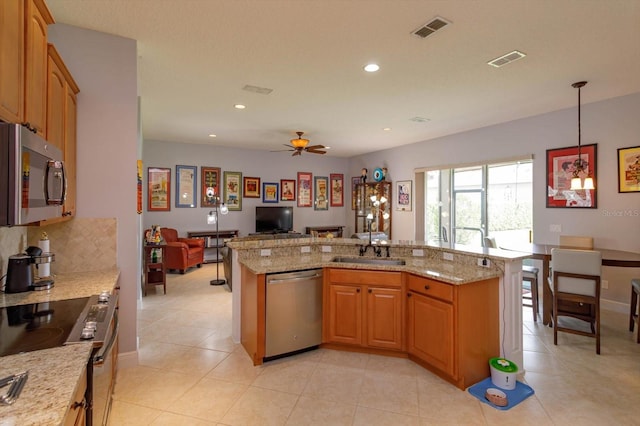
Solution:
{"label": "beige tile backsplash on left wall behind the coffee maker", "polygon": [[27,241],[37,246],[42,232],[55,255],[53,274],[112,269],[117,264],[117,222],[115,218],[74,218],[48,226],[29,227]]}

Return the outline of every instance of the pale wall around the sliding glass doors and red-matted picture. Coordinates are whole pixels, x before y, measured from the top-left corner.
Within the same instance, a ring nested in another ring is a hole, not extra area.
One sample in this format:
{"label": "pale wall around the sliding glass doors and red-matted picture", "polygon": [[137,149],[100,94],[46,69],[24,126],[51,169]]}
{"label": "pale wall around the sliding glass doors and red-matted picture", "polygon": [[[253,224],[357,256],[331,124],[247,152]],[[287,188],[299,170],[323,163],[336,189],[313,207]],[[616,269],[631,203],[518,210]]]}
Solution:
{"label": "pale wall around the sliding glass doors and red-matted picture", "polygon": [[[569,92],[574,96],[575,92]],[[597,143],[597,208],[546,207],[546,150],[578,143],[577,108],[374,152],[350,161],[350,176],[362,167],[386,166],[390,180],[413,180],[420,167],[490,162],[533,154],[533,235],[536,243],[557,244],[563,234],[591,235],[596,247],[640,252],[640,193],[618,193],[617,149],[640,145],[640,93],[582,105],[582,143]],[[428,125],[428,124],[427,124]],[[394,188],[395,191],[395,188]],[[415,185],[414,185],[415,199]],[[414,208],[415,211],[415,208]],[[622,216],[616,215],[623,213]],[[352,216],[353,217],[353,216]],[[413,212],[393,212],[393,239],[414,239]],[[638,268],[608,268],[603,298],[628,303],[629,280]]]}

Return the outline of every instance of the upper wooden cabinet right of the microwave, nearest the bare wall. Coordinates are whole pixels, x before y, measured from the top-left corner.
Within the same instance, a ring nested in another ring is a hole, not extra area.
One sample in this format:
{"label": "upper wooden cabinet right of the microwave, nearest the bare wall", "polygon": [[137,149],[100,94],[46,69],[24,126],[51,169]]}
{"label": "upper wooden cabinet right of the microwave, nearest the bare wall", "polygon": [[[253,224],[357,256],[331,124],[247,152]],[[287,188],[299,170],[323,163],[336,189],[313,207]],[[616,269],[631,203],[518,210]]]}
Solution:
{"label": "upper wooden cabinet right of the microwave, nearest the bare wall", "polygon": [[67,172],[63,217],[76,210],[76,95],[80,91],[56,48],[49,44],[47,62],[47,141],[62,150]]}

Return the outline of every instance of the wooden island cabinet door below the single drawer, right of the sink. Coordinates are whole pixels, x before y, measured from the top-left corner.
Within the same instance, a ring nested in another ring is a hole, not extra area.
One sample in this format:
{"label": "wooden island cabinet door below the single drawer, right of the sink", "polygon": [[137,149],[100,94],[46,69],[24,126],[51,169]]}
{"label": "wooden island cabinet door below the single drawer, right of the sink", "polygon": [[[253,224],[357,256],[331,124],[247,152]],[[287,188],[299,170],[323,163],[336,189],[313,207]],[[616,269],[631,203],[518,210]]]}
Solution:
{"label": "wooden island cabinet door below the single drawer, right of the sink", "polygon": [[454,377],[453,305],[409,293],[408,351]]}

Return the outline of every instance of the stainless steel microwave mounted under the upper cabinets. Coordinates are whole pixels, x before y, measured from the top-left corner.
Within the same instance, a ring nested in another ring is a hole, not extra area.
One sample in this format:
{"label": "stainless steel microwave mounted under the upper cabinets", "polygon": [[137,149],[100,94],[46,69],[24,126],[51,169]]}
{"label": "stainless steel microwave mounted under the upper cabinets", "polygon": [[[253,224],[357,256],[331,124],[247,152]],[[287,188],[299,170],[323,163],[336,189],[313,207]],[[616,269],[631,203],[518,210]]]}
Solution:
{"label": "stainless steel microwave mounted under the upper cabinets", "polygon": [[0,123],[0,226],[62,216],[62,151],[20,124]]}

